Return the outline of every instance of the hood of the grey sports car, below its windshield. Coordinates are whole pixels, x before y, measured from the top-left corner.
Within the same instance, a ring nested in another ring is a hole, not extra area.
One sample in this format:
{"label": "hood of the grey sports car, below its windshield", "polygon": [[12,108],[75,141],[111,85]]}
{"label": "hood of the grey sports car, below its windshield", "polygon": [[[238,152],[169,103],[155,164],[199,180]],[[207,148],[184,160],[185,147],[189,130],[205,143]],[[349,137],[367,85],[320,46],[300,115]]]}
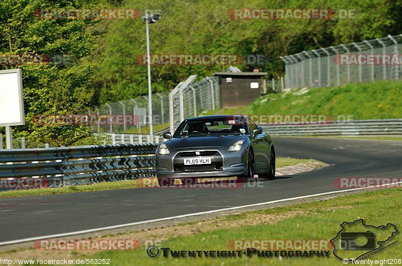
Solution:
{"label": "hood of the grey sports car, below its windshield", "polygon": [[172,138],[165,142],[169,150],[182,148],[197,148],[197,147],[227,147],[229,148],[236,141],[246,138],[245,135],[240,136],[191,136],[187,138]]}

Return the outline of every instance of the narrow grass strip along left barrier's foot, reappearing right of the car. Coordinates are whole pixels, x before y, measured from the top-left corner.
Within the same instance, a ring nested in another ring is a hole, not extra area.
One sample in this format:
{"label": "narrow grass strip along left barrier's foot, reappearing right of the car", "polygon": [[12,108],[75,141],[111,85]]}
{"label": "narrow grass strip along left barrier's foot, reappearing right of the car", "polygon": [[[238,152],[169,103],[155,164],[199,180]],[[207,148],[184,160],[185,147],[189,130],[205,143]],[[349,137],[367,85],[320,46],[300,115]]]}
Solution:
{"label": "narrow grass strip along left barrier's foot, reappearing right of the car", "polygon": [[[298,163],[306,163],[308,161],[316,161],[314,159],[293,159],[293,158],[276,158],[276,168],[294,165]],[[154,183],[154,182],[152,182]],[[55,188],[36,188],[36,189],[18,189],[0,192],[0,198],[4,197],[19,197],[19,196],[36,196],[36,195],[49,195],[49,194],[63,194],[72,192],[88,192],[99,190],[111,190],[111,189],[125,189],[125,188],[137,188],[136,180],[123,180],[115,182],[102,182],[91,185],[78,185],[67,187],[55,187]]]}

